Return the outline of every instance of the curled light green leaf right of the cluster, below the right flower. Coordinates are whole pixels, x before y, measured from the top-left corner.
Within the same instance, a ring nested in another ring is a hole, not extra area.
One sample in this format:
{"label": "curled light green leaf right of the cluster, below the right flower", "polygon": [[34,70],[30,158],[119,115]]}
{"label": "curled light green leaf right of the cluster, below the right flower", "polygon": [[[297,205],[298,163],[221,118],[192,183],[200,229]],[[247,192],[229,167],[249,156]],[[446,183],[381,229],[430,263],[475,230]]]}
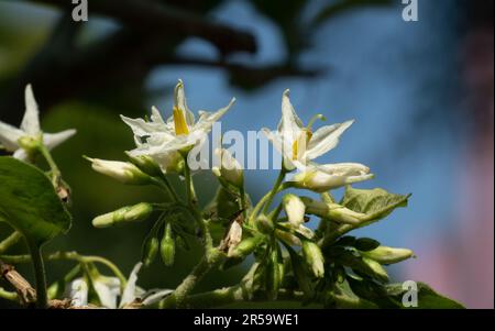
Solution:
{"label": "curled light green leaf right of the cluster, below the right flower", "polygon": [[362,221],[373,222],[388,216],[397,207],[406,207],[411,195],[395,195],[382,188],[356,189],[348,186],[340,205],[366,214]]}

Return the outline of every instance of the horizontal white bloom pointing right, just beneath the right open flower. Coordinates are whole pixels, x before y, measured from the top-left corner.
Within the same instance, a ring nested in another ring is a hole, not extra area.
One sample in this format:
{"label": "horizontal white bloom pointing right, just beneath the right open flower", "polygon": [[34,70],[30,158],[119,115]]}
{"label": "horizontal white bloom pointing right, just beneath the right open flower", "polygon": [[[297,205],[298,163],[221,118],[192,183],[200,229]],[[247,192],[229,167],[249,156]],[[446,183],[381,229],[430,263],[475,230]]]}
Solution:
{"label": "horizontal white bloom pointing right, just beneath the right open flower", "polygon": [[359,163],[310,164],[296,174],[292,181],[295,187],[324,192],[373,177],[370,168]]}

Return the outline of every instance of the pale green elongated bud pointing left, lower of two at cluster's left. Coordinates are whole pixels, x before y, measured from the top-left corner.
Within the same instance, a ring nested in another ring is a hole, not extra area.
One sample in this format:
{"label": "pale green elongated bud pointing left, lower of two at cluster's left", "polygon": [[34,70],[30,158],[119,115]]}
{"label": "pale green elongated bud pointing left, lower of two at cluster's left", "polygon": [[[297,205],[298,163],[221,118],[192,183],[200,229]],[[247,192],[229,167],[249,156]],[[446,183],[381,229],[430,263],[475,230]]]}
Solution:
{"label": "pale green elongated bud pointing left, lower of two at cluster's left", "polygon": [[134,206],[122,207],[116,211],[101,214],[92,220],[95,228],[109,228],[123,222],[143,221],[153,212],[153,206],[141,202]]}

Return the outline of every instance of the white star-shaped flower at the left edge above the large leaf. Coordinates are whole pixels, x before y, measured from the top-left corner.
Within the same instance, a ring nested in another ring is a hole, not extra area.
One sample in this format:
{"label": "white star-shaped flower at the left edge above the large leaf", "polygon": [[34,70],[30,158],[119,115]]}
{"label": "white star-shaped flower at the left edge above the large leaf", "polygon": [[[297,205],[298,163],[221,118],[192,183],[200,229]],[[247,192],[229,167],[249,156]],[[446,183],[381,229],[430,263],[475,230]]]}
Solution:
{"label": "white star-shaped flower at the left edge above the large leaf", "polygon": [[43,137],[43,144],[52,150],[76,133],[76,130],[65,130],[58,133],[43,133],[40,128],[40,112],[34,100],[31,85],[25,87],[25,112],[18,129],[0,121],[0,144],[8,152],[13,152],[13,157],[28,159],[28,152],[20,145],[19,141],[24,137],[40,140]]}

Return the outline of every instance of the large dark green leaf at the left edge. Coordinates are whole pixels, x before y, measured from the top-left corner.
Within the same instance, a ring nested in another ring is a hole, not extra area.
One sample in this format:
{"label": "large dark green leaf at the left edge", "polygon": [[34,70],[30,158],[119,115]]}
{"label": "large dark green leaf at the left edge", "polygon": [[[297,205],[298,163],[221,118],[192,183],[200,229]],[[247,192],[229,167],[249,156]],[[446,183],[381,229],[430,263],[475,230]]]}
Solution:
{"label": "large dark green leaf at the left edge", "polygon": [[0,216],[38,246],[70,228],[70,216],[48,177],[8,156],[0,157]]}

